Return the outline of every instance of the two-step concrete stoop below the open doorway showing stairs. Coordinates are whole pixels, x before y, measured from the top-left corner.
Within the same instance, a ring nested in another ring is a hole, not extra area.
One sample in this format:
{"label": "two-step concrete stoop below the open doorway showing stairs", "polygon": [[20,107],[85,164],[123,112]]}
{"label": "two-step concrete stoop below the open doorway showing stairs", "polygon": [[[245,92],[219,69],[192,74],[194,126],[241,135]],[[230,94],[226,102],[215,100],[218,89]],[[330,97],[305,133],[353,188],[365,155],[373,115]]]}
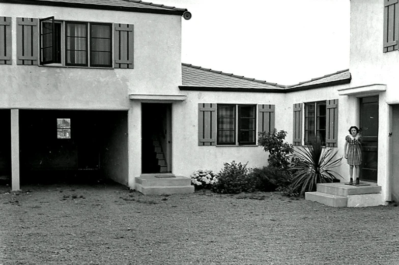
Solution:
{"label": "two-step concrete stoop below the open doorway showing stairs", "polygon": [[136,190],[144,195],[193,193],[191,179],[170,173],[142,174],[136,176]]}

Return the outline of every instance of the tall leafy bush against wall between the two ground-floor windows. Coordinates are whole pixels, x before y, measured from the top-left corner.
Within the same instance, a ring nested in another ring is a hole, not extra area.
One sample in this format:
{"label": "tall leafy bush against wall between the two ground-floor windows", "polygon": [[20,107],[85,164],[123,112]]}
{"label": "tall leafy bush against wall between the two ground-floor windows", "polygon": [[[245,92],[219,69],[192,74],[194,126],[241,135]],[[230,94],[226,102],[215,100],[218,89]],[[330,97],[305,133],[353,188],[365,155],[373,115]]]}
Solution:
{"label": "tall leafy bush against wall between the two ground-floor windows", "polygon": [[259,133],[259,144],[265,152],[269,152],[269,165],[276,168],[287,169],[290,165],[290,157],[294,152],[291,143],[284,142],[287,132],[274,129],[272,132]]}

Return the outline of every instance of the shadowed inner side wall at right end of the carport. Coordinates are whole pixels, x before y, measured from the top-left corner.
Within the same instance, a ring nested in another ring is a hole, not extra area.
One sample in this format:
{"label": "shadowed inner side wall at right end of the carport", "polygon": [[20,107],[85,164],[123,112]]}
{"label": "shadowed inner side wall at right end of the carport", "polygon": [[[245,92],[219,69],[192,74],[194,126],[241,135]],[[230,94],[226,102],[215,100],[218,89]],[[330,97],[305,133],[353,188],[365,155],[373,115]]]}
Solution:
{"label": "shadowed inner side wall at right end of the carport", "polygon": [[104,119],[104,145],[101,147],[101,170],[106,178],[128,185],[127,111],[110,112]]}

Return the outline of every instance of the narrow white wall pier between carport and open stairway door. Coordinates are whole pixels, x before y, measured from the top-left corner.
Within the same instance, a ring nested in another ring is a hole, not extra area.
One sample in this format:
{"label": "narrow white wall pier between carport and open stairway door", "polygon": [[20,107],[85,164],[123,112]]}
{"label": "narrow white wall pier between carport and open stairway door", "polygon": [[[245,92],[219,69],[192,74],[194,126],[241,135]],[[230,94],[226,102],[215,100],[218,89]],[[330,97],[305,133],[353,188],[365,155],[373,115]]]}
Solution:
{"label": "narrow white wall pier between carport and open stairway door", "polygon": [[135,188],[135,177],[141,174],[141,103],[130,101],[128,111],[128,165],[129,187]]}

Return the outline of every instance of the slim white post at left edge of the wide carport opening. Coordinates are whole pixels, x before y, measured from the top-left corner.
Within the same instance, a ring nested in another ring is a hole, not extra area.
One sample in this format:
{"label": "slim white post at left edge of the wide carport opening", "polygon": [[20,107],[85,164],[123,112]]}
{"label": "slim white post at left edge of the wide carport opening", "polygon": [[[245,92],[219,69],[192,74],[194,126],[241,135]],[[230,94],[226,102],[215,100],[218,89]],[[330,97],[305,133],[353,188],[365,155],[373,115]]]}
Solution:
{"label": "slim white post at left edge of the wide carport opening", "polygon": [[11,189],[19,185],[19,109],[11,109]]}

